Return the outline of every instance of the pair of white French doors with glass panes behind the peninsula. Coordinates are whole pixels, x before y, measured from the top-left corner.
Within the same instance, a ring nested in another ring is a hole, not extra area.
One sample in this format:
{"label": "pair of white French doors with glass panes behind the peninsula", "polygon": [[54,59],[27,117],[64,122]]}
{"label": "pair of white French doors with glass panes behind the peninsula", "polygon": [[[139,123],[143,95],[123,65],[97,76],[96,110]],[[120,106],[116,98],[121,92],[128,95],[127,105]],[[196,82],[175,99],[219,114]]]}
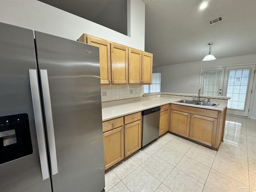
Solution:
{"label": "pair of white French doors with glass panes behind the peninsula", "polygon": [[255,65],[202,69],[204,95],[228,96],[227,114],[248,117]]}

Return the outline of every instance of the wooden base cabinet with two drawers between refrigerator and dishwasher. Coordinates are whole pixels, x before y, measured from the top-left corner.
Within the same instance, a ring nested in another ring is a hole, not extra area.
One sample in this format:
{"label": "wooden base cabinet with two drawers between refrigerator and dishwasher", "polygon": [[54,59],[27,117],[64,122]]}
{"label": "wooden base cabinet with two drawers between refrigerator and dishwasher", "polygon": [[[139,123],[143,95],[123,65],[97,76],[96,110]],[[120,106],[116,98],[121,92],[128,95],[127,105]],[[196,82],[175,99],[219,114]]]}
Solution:
{"label": "wooden base cabinet with two drawers between refrigerator and dishwasher", "polygon": [[103,122],[103,131],[108,130],[103,133],[105,170],[141,148],[140,119],[138,112]]}

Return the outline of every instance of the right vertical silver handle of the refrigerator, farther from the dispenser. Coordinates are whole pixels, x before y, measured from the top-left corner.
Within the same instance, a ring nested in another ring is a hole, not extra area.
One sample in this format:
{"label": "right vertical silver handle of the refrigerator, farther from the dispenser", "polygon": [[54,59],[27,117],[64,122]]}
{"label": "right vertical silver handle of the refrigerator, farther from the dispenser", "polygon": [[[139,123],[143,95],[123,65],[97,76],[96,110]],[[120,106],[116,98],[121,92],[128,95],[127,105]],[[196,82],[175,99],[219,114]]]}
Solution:
{"label": "right vertical silver handle of the refrigerator, farther from the dispenser", "polygon": [[50,150],[52,175],[55,175],[58,173],[58,165],[57,165],[54,127],[53,127],[53,120],[52,120],[52,105],[51,105],[51,99],[50,99],[50,89],[49,89],[47,70],[40,69],[40,75],[41,75],[42,92],[43,92],[43,99],[44,99],[44,111],[45,111],[45,118],[46,118],[46,128],[47,128],[47,136],[48,136],[48,143],[49,143],[49,150]]}

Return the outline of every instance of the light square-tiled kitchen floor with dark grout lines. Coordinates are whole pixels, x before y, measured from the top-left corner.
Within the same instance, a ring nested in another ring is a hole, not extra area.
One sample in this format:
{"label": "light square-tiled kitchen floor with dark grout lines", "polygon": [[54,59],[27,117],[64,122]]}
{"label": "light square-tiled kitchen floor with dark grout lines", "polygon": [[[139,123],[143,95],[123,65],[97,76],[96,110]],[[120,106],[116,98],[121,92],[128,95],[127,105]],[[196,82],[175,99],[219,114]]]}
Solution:
{"label": "light square-tiled kitchen floor with dark grout lines", "polygon": [[166,133],[105,181],[106,192],[256,192],[256,120],[227,115],[218,152]]}

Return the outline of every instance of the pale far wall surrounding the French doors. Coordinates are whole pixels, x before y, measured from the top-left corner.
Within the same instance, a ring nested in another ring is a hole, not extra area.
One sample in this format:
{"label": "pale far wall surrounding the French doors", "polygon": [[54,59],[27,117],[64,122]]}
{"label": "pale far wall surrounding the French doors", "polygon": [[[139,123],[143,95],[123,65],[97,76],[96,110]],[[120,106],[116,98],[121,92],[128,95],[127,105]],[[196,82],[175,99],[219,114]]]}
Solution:
{"label": "pale far wall surrounding the French doors", "polygon": [[[198,61],[176,65],[153,67],[153,72],[162,72],[161,91],[198,94],[200,69],[256,62],[256,54],[221,58],[213,61]],[[256,78],[256,77],[255,77]],[[254,79],[255,81],[256,79]],[[192,84],[196,86],[192,87]],[[254,90],[256,87],[253,88]],[[256,119],[256,94],[254,94],[251,118]]]}

